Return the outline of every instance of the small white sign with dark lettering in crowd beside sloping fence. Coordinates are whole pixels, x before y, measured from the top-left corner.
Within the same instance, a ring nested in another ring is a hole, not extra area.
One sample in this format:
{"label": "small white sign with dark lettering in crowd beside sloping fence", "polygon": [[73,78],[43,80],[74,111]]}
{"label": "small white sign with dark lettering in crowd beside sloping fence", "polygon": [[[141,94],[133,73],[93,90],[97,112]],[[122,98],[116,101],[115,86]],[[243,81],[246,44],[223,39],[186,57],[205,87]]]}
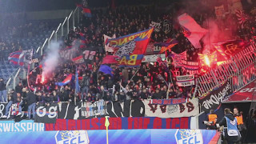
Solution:
{"label": "small white sign with dark lettering in crowd beside sloping fence", "polygon": [[193,86],[194,85],[194,75],[182,75],[176,77],[176,84],[178,86]]}

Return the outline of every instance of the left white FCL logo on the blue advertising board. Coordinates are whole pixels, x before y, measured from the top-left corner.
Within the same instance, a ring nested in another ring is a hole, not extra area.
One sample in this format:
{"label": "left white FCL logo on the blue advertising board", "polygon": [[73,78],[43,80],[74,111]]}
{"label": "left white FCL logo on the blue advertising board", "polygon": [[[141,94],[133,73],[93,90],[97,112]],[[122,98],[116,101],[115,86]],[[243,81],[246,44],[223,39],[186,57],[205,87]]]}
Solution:
{"label": "left white FCL logo on the blue advertising board", "polygon": [[55,135],[57,144],[88,144],[89,138],[86,130],[60,130]]}

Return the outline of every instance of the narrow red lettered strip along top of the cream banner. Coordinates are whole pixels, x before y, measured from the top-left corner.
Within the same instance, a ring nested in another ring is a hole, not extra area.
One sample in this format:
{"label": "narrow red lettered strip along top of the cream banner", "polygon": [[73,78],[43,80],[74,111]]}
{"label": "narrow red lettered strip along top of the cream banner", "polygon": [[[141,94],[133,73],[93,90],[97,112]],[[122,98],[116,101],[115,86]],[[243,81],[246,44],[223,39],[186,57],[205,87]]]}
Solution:
{"label": "narrow red lettered strip along top of the cream banner", "polygon": [[181,103],[185,103],[185,98],[170,98],[170,99],[151,99],[151,104],[157,104],[157,105],[178,105]]}

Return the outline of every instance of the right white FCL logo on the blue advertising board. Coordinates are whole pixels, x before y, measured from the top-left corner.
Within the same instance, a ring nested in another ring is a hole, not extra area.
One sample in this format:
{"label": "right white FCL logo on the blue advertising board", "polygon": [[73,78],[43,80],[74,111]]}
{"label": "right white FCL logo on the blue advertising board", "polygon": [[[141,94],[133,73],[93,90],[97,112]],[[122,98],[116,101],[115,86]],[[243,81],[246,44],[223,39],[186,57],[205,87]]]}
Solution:
{"label": "right white FCL logo on the blue advertising board", "polygon": [[201,130],[177,130],[175,138],[178,144],[203,144]]}

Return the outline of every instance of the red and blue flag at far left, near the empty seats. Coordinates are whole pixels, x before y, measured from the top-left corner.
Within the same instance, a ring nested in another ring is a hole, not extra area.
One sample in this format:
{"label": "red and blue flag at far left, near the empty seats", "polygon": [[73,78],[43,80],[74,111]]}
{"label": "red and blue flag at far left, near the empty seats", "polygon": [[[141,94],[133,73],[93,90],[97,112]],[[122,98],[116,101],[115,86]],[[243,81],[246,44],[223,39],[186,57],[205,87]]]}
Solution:
{"label": "red and blue flag at far left, near the empty seats", "polygon": [[10,53],[8,60],[14,65],[23,66],[24,64],[30,64],[33,55],[33,50],[19,50]]}

